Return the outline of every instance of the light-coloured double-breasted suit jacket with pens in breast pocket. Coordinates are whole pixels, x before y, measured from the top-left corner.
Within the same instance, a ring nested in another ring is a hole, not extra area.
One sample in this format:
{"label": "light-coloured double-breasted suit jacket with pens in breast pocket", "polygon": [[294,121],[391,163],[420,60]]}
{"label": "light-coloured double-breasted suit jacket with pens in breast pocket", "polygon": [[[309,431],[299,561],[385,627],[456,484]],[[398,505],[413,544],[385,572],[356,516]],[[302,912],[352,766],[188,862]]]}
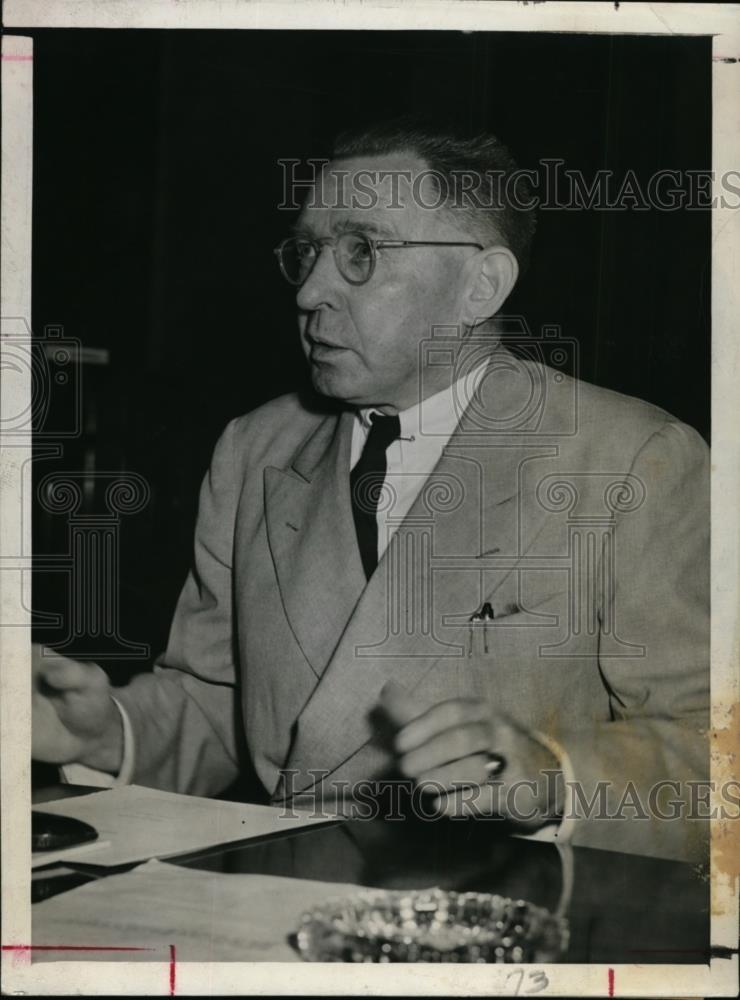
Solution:
{"label": "light-coloured double-breasted suit jacket with pens in breast pocket", "polygon": [[[422,418],[423,419],[423,418]],[[664,411],[503,348],[366,583],[354,415],[276,399],[232,421],[166,653],[117,692],[134,780],[268,793],[384,773],[371,713],[486,698],[566,750],[590,799],[708,776],[708,449]],[[390,484],[392,487],[392,484]],[[390,496],[392,502],[392,490]],[[489,601],[495,621],[469,619]],[[484,634],[485,631],[485,634]],[[682,790],[685,790],[683,786]],[[670,812],[670,810],[668,810]],[[580,820],[575,843],[690,856],[700,824]]]}

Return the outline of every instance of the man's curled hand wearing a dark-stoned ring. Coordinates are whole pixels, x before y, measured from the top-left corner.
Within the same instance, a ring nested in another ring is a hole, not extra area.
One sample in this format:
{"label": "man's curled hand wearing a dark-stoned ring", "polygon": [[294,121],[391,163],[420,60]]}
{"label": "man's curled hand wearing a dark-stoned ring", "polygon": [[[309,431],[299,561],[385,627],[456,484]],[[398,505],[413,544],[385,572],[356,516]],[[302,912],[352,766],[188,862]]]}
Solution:
{"label": "man's curled hand wearing a dark-stoned ring", "polygon": [[393,682],[383,688],[381,706],[398,727],[401,772],[436,792],[441,813],[502,816],[527,829],[558,815],[559,763],[513,719],[466,698],[422,710]]}

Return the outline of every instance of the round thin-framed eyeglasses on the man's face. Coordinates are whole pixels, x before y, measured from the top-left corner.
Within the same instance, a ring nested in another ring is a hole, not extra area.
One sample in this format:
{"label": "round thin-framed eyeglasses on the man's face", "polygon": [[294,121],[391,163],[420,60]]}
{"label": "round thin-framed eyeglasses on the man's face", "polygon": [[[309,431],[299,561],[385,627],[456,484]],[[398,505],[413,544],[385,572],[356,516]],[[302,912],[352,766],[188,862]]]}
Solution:
{"label": "round thin-framed eyeglasses on the man's face", "polygon": [[320,240],[308,236],[289,236],[273,251],[283,277],[291,285],[302,285],[314,268],[322,249],[331,247],[337,269],[350,285],[364,285],[375,271],[378,250],[404,250],[407,247],[476,247],[480,243],[450,243],[442,240],[374,240],[364,233],[342,233]]}

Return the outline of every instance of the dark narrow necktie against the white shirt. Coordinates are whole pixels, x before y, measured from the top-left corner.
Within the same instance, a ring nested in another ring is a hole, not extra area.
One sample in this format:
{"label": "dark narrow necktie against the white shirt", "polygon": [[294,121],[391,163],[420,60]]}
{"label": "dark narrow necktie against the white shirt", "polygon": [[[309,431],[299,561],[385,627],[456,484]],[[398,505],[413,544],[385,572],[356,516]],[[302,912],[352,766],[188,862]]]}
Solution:
{"label": "dark narrow necktie against the white shirt", "polygon": [[398,417],[384,417],[380,413],[373,413],[370,422],[370,432],[362,449],[362,455],[349,477],[357,542],[368,580],[378,565],[376,518],[388,467],[385,450],[392,441],[401,436],[401,421]]}

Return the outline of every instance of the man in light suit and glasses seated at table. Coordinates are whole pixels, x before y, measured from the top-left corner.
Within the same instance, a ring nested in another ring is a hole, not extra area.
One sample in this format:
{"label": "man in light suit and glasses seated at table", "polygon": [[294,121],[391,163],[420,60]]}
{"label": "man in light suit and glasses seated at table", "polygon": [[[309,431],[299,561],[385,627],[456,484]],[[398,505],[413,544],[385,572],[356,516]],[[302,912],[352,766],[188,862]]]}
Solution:
{"label": "man in light suit and glasses seated at table", "polygon": [[316,396],[226,428],[152,674],[114,701],[37,656],[38,758],[208,795],[248,754],[276,802],[396,775],[431,811],[691,853],[707,449],[506,348],[513,178],[491,136],[339,139],[276,250]]}

